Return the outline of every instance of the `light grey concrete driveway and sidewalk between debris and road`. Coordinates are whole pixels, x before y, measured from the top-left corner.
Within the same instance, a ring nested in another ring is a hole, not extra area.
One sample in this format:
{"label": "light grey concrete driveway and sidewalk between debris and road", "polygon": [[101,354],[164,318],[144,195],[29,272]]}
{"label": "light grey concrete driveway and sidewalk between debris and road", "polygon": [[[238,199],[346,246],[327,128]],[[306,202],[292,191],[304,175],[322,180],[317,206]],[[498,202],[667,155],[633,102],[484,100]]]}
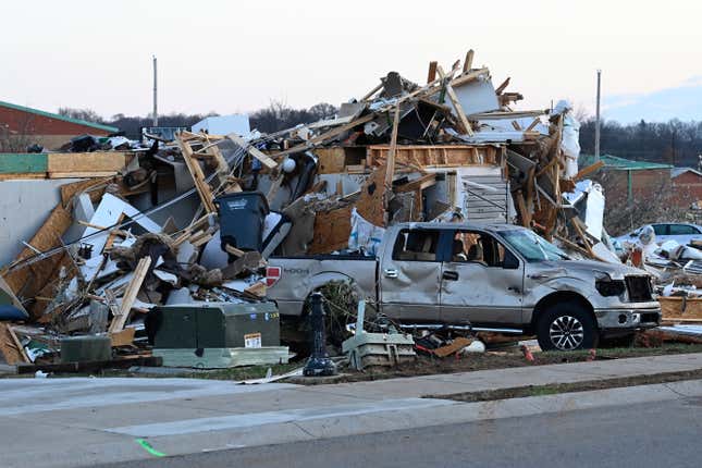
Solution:
{"label": "light grey concrete driveway and sidewalk between debris and road", "polygon": [[[3,466],[78,466],[701,396],[702,381],[457,403],[448,395],[702,369],[702,354],[534,366],[373,382],[235,385],[195,379],[0,380]],[[57,455],[60,454],[60,455]]]}

